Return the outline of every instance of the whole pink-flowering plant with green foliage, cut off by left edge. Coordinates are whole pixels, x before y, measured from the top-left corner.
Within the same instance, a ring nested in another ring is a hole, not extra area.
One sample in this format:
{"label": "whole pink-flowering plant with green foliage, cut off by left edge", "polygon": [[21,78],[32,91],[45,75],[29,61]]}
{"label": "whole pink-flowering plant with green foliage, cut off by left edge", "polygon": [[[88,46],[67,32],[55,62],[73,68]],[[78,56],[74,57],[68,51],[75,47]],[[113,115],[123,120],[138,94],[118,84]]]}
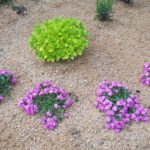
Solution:
{"label": "whole pink-flowering plant with green foliage, cut off by left edge", "polygon": [[0,102],[4,100],[6,95],[10,95],[16,81],[16,77],[10,71],[0,69]]}

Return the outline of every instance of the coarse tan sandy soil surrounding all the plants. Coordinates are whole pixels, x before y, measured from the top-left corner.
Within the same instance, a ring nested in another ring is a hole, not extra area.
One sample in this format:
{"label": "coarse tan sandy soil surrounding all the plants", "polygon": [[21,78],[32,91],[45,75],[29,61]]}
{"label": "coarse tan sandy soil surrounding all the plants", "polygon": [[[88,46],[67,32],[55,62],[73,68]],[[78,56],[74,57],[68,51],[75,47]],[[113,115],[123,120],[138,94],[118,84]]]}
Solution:
{"label": "coarse tan sandy soil surrounding all the plants", "polygon": [[[134,93],[140,90],[141,103],[150,108],[150,89],[139,83],[141,66],[150,61],[150,1],[136,0],[133,7],[117,2],[113,21],[106,23],[94,20],[94,0],[17,0],[17,4],[27,6],[27,15],[0,7],[0,68],[18,77],[12,96],[0,105],[0,150],[149,150],[149,123],[132,124],[115,134],[105,129],[105,116],[93,102],[98,83],[117,80]],[[90,35],[89,48],[74,61],[38,61],[27,44],[33,25],[57,16],[82,20]],[[43,129],[38,116],[28,117],[16,106],[27,89],[44,79],[79,97],[71,117],[54,132]]]}

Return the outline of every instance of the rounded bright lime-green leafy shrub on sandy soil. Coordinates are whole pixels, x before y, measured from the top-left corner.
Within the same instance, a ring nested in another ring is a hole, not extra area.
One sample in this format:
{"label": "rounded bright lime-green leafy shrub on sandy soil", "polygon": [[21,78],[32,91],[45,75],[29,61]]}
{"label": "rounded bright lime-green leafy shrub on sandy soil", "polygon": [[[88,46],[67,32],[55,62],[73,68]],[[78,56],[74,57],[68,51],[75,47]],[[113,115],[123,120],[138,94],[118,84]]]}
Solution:
{"label": "rounded bright lime-green leafy shrub on sandy soil", "polygon": [[54,62],[81,55],[88,40],[82,22],[56,18],[36,25],[29,43],[39,59]]}

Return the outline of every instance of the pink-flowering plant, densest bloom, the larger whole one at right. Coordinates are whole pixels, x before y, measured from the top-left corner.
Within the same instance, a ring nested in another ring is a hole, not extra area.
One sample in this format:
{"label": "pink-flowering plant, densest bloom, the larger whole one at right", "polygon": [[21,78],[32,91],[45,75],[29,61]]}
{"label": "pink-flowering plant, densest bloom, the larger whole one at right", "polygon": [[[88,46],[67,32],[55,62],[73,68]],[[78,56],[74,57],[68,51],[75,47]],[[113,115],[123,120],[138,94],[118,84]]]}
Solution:
{"label": "pink-flowering plant, densest bloom, the larger whole one at right", "polygon": [[140,106],[139,97],[116,81],[103,81],[98,86],[95,106],[106,115],[106,128],[120,132],[131,120],[148,121],[147,109]]}

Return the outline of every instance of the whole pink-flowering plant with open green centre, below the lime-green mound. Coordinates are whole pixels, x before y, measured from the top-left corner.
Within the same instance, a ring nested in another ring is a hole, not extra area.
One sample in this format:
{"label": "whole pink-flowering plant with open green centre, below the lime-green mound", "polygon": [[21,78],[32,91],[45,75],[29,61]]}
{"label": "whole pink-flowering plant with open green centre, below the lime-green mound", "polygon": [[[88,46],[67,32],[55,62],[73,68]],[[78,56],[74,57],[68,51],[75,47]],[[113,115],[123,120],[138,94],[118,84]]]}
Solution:
{"label": "whole pink-flowering plant with open green centre, below the lime-green mound", "polygon": [[29,90],[26,96],[19,100],[18,106],[30,116],[40,113],[41,124],[49,130],[54,130],[63,118],[68,117],[66,110],[73,104],[71,97],[64,89],[50,81],[43,81]]}

